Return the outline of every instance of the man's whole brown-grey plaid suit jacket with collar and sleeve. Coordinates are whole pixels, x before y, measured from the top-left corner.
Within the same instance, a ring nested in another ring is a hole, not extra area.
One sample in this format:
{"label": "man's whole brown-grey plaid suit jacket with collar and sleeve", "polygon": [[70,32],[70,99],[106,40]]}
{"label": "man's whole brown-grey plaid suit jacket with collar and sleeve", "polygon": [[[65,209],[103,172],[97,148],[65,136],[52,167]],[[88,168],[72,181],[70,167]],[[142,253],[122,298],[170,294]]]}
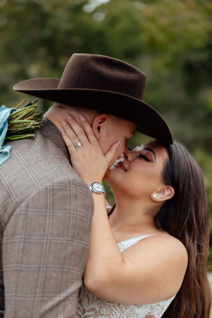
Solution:
{"label": "man's whole brown-grey plaid suit jacket with collar and sleeve", "polygon": [[0,317],[76,317],[93,199],[59,130],[42,124],[0,166]]}

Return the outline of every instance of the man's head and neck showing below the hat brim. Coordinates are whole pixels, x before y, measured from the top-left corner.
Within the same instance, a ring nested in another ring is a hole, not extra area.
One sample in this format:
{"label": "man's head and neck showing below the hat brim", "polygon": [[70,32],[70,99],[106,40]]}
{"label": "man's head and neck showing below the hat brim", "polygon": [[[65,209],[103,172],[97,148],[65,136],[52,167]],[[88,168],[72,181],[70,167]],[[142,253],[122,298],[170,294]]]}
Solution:
{"label": "man's head and neck showing below the hat brim", "polygon": [[53,124],[61,131],[62,126],[60,120],[66,118],[65,115],[67,113],[71,113],[80,126],[79,115],[83,114],[87,118],[104,155],[115,142],[120,141],[116,156],[110,162],[110,165],[112,165],[122,153],[127,151],[127,139],[134,135],[136,129],[136,125],[132,122],[111,114],[104,114],[95,110],[83,107],[72,107],[56,102],[54,102],[44,114],[44,118],[53,122]]}

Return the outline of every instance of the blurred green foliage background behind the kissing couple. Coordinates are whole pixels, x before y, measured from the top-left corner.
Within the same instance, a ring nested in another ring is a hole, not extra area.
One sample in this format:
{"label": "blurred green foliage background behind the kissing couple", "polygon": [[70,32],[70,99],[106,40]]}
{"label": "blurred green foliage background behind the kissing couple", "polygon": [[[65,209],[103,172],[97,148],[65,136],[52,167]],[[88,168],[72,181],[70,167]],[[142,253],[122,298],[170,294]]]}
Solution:
{"label": "blurred green foliage background behind the kissing couple", "polygon": [[[73,53],[133,64],[147,76],[144,101],[202,168],[212,245],[211,18],[207,0],[0,0],[0,104],[24,99],[12,89],[19,81],[60,78]],[[38,102],[44,112],[50,106]],[[136,133],[129,146],[147,140]]]}

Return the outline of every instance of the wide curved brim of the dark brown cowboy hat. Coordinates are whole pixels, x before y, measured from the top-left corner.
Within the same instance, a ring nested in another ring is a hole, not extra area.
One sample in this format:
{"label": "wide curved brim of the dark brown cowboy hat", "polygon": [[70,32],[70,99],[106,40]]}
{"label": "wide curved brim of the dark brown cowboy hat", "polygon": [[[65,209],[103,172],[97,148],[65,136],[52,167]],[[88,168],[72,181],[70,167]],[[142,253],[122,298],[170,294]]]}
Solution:
{"label": "wide curved brim of the dark brown cowboy hat", "polygon": [[162,116],[147,103],[111,91],[67,88],[57,89],[60,79],[28,79],[16,84],[15,91],[71,106],[97,110],[123,118],[137,125],[144,135],[173,144],[173,138]]}

